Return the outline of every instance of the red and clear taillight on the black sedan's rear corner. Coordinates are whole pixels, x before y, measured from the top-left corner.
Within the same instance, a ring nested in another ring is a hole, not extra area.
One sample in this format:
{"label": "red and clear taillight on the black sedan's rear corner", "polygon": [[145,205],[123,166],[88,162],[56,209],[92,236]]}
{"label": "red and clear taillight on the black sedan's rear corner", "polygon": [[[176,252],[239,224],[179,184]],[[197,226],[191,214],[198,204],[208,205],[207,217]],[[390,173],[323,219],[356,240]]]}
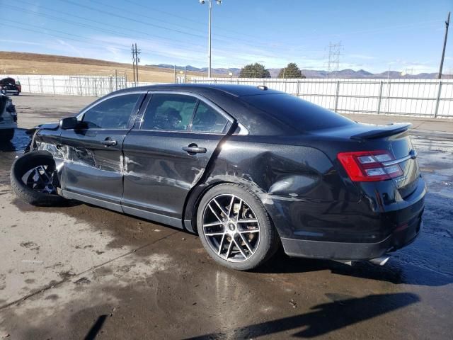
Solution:
{"label": "red and clear taillight on the black sedan's rear corner", "polygon": [[379,151],[360,151],[360,152],[340,152],[338,160],[350,179],[354,182],[372,182],[394,179],[401,176],[403,170],[399,164],[384,165],[394,157],[385,150]]}

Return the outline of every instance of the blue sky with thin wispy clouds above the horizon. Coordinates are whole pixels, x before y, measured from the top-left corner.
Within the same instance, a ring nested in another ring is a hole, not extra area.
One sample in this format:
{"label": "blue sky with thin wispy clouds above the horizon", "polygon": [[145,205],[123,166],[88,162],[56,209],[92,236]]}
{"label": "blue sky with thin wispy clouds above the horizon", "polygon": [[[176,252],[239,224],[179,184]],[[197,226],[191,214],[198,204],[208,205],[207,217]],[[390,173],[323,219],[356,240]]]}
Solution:
{"label": "blue sky with thin wispy clouds above the horizon", "polygon": [[[137,42],[141,64],[207,66],[207,5],[198,0],[0,0],[0,8],[11,23],[0,50],[130,62]],[[340,69],[437,72],[452,9],[453,0],[224,0],[213,4],[212,67],[327,69],[329,43],[341,42]],[[444,72],[453,73],[449,34]]]}

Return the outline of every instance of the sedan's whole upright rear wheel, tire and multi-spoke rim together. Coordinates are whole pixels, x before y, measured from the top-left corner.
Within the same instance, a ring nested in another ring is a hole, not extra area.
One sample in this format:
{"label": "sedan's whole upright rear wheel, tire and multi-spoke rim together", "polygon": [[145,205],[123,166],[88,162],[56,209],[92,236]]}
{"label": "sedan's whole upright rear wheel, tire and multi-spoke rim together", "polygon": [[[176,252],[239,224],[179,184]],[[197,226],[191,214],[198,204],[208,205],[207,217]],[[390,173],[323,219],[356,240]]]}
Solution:
{"label": "sedan's whole upright rear wheel, tire and multi-spoke rim together", "polygon": [[214,186],[203,196],[197,230],[208,254],[237,270],[260,266],[280,244],[263,203],[247,188],[232,183]]}

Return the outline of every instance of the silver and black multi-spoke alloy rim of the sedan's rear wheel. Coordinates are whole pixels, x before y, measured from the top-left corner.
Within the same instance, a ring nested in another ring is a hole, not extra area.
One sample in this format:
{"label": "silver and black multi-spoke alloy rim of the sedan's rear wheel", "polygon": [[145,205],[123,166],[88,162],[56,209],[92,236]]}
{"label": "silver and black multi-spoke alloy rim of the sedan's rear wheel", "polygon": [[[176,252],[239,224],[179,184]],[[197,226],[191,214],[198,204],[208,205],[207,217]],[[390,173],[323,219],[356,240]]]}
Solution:
{"label": "silver and black multi-spoke alloy rim of the sedan's rear wheel", "polygon": [[202,216],[203,234],[222,259],[241,262],[255,254],[260,224],[252,208],[238,196],[223,194],[210,200]]}

